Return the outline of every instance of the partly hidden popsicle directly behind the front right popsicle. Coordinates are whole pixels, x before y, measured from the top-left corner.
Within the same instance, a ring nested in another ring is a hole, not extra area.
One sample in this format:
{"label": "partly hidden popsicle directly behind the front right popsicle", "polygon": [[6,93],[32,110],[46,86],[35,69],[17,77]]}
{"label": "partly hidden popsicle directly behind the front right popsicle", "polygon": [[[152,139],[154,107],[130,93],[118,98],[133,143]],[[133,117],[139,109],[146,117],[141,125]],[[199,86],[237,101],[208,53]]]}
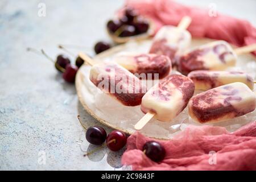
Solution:
{"label": "partly hidden popsicle directly behind the front right popsicle", "polygon": [[193,80],[196,90],[209,90],[233,82],[243,82],[251,90],[254,88],[253,77],[243,72],[199,70],[190,72],[188,77]]}

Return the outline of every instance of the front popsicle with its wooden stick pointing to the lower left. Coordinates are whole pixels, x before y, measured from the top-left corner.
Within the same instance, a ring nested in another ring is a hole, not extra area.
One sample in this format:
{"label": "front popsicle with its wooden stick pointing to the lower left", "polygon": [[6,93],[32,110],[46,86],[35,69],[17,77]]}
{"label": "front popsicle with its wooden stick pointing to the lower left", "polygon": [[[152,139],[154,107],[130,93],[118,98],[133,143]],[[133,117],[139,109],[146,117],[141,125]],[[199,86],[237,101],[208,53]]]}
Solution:
{"label": "front popsicle with its wooden stick pointing to the lower left", "polygon": [[146,115],[134,126],[135,129],[141,130],[152,117],[171,121],[187,106],[194,90],[190,78],[176,74],[167,76],[142,97],[141,110]]}

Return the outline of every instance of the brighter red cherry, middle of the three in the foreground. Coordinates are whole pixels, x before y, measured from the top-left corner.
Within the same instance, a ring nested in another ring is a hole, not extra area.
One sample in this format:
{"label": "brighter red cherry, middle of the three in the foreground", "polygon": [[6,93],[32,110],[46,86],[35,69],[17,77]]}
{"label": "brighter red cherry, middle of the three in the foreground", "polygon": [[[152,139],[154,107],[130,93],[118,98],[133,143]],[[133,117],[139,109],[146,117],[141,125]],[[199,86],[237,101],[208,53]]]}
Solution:
{"label": "brighter red cherry, middle of the three in the foreground", "polygon": [[122,131],[114,130],[109,133],[106,144],[107,147],[112,151],[118,151],[123,148],[126,144],[127,137]]}

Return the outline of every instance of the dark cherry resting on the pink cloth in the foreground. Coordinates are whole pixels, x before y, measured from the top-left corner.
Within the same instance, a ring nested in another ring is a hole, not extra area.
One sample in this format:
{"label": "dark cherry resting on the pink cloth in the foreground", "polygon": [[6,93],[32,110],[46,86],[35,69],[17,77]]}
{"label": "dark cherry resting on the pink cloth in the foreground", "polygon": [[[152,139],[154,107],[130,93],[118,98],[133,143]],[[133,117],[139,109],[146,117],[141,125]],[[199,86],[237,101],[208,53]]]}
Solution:
{"label": "dark cherry resting on the pink cloth in the foreground", "polygon": [[146,142],[143,146],[143,151],[145,152],[146,156],[154,162],[160,162],[166,155],[166,150],[164,147],[161,146],[160,143],[154,141]]}

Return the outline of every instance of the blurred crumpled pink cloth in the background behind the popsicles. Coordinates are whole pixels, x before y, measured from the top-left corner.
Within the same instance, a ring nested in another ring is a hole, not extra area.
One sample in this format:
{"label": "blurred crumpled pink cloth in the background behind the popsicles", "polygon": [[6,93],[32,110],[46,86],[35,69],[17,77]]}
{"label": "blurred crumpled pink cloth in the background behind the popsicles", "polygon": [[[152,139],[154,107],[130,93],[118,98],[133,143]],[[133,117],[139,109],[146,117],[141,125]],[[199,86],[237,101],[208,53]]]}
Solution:
{"label": "blurred crumpled pink cloth in the background behind the popsicles", "polygon": [[[194,37],[226,40],[236,46],[256,43],[256,28],[246,20],[217,13],[209,16],[209,10],[181,5],[172,0],[127,0],[139,14],[154,20],[156,30],[164,24],[177,26],[183,16],[192,18],[188,31]],[[256,55],[256,51],[254,52]]]}

